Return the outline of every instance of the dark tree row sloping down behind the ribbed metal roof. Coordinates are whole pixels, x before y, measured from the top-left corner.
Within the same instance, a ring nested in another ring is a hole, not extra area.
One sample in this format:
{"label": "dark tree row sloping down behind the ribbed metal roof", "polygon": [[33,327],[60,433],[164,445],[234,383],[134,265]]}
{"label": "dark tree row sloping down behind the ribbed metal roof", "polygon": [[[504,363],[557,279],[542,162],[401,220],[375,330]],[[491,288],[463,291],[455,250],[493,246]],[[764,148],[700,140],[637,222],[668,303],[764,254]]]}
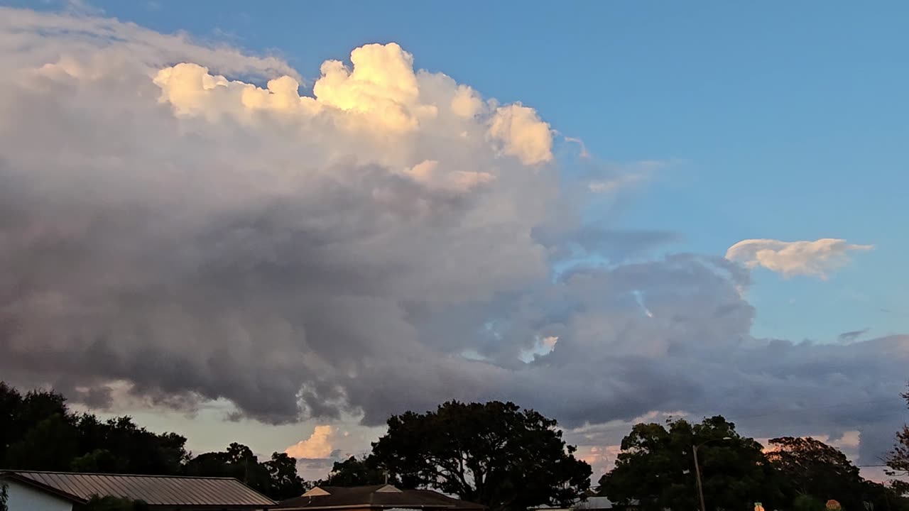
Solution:
{"label": "dark tree row sloping down behind the ribbed metal roof", "polygon": [[101,420],[74,413],[64,396],[25,394],[0,382],[0,467],[158,476],[227,476],[276,500],[299,496],[296,460],[274,453],[260,461],[247,446],[193,456],[185,436],[156,434],[128,416]]}

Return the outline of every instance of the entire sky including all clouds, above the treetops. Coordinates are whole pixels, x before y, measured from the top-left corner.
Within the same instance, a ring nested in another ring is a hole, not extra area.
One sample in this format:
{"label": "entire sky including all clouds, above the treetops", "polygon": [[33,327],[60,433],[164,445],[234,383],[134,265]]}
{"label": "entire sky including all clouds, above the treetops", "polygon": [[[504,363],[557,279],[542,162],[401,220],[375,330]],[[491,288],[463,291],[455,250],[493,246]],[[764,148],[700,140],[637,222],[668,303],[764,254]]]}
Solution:
{"label": "entire sky including all clouds, above the treetops", "polygon": [[0,5],[17,385],[308,476],[451,398],[594,477],[907,418],[904,3]]}

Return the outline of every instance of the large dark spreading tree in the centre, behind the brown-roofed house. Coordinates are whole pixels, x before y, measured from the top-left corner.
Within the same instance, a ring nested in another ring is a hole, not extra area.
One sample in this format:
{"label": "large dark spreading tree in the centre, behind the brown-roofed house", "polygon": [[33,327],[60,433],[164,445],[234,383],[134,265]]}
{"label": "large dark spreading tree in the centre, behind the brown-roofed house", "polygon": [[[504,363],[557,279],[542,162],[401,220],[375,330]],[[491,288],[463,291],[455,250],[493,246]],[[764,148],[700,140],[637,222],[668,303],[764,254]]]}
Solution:
{"label": "large dark spreading tree in the centre, behind the brown-roofed house", "polygon": [[498,401],[392,416],[373,444],[377,466],[403,486],[433,487],[493,511],[568,506],[582,496],[591,469],[574,450],[554,420]]}

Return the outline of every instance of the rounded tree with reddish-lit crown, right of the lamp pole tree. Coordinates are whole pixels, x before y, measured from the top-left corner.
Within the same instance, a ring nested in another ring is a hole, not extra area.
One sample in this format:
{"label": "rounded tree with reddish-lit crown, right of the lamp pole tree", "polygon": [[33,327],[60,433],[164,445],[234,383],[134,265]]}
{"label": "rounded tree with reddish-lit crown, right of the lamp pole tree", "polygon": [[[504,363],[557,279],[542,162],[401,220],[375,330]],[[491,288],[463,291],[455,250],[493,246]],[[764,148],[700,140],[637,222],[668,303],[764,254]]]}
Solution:
{"label": "rounded tree with reddish-lit crown, right of the lamp pole tree", "polygon": [[772,438],[767,459],[781,476],[787,498],[836,499],[846,509],[863,509],[864,479],[839,449],[811,437]]}

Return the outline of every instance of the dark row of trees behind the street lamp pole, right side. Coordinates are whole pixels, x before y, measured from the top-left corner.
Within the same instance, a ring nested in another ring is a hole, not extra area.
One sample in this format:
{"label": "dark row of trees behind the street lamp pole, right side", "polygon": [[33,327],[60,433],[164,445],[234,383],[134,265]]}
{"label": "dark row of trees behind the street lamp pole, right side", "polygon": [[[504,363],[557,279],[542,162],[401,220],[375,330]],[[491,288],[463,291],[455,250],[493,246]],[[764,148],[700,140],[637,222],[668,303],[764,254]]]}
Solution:
{"label": "dark row of trees behind the street lamp pole, right side", "polygon": [[723,416],[699,424],[684,419],[638,424],[622,441],[599,494],[640,509],[699,508],[694,448],[707,509],[824,511],[834,500],[846,511],[909,510],[902,489],[864,479],[834,446],[810,437],[772,438],[767,446],[735,431]]}

